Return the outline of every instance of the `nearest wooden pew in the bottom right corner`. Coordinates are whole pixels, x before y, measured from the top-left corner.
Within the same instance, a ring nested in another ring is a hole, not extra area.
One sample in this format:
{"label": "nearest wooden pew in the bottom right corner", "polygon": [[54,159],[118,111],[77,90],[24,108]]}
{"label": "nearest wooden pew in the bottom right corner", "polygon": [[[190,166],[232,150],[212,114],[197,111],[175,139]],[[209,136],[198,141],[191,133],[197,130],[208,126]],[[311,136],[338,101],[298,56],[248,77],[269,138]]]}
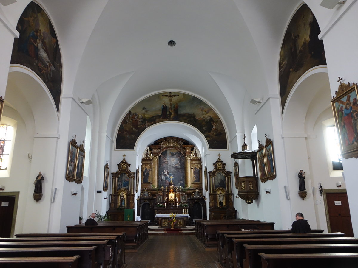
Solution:
{"label": "nearest wooden pew in the bottom right corner", "polygon": [[307,254],[265,254],[259,253],[262,258],[262,268],[298,268],[298,267],[325,267],[325,268],[357,268],[358,253],[307,253]]}

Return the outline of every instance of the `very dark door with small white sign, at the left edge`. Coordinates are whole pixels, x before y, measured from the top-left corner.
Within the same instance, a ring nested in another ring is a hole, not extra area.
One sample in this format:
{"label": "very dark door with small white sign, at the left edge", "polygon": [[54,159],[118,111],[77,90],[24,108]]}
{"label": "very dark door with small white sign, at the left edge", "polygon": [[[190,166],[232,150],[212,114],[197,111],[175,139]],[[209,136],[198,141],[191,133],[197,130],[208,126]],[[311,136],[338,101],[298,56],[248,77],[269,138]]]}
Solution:
{"label": "very dark door with small white sign, at the left edge", "polygon": [[15,197],[0,195],[0,237],[11,236]]}

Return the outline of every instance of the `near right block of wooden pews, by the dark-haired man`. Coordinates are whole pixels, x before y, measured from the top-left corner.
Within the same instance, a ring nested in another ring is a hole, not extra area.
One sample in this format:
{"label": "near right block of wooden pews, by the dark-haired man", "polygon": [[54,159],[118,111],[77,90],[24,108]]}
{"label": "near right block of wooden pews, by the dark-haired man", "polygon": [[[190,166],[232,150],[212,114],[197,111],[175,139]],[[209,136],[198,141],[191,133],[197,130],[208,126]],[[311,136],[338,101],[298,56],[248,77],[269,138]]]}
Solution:
{"label": "near right block of wooden pews, by the dark-haired man", "polygon": [[358,239],[322,232],[217,231],[218,264],[244,268],[357,267]]}

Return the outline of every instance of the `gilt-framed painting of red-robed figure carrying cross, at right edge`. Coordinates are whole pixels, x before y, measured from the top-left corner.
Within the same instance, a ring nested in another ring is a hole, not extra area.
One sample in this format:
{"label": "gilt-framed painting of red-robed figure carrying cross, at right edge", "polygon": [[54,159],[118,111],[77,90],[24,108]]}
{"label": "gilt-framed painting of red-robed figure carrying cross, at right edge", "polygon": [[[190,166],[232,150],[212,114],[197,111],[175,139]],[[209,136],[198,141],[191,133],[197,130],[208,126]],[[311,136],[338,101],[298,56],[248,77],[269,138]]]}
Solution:
{"label": "gilt-framed painting of red-robed figure carrying cross, at right edge", "polygon": [[358,104],[357,84],[341,84],[336,97],[332,99],[332,109],[338,132],[342,157],[358,157]]}

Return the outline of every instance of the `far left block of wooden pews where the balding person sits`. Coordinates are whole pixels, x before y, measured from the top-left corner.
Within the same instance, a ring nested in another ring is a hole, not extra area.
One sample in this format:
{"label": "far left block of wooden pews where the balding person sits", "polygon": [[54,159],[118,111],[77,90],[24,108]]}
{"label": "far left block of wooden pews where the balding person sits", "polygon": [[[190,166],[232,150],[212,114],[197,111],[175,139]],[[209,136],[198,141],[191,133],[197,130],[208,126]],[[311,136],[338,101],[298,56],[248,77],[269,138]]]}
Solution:
{"label": "far left block of wooden pews where the balding person sits", "polygon": [[67,233],[126,233],[125,248],[138,248],[148,238],[148,221],[104,221],[98,225],[76,224],[66,226]]}

